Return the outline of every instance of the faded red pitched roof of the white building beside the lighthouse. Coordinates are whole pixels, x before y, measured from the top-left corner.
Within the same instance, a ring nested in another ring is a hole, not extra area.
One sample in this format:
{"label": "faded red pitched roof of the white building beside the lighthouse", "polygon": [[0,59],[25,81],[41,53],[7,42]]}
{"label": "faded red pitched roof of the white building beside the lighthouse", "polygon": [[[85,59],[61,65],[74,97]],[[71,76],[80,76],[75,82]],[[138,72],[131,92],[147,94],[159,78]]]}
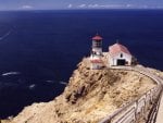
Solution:
{"label": "faded red pitched roof of the white building beside the lighthouse", "polygon": [[110,52],[110,54],[112,57],[116,56],[120,52],[124,52],[124,53],[130,54],[129,50],[125,46],[123,46],[123,45],[121,45],[118,42],[114,44],[113,46],[110,46],[109,47],[109,52]]}

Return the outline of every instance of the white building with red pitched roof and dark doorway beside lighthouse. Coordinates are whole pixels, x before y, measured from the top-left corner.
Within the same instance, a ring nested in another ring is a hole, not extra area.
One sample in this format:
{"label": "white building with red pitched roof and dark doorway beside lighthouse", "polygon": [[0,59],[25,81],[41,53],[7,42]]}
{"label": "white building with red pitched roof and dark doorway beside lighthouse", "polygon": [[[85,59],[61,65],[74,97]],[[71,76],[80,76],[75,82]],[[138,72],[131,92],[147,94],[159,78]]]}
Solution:
{"label": "white building with red pitched roof and dark doorway beside lighthouse", "polygon": [[116,42],[109,47],[109,64],[113,65],[131,65],[133,56],[128,49]]}

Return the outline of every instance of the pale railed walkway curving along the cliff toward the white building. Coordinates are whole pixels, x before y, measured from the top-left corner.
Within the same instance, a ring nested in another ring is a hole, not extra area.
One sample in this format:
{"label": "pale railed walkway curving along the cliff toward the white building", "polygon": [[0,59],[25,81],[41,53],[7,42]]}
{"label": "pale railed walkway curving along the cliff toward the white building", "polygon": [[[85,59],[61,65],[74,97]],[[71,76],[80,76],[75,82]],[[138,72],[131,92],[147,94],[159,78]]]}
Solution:
{"label": "pale railed walkway curving along the cliff toward the white building", "polygon": [[[162,79],[158,76],[154,76],[149,71],[142,70],[140,67],[117,66],[112,69],[139,72],[152,78],[158,85],[142,95],[139,99],[126,104],[125,107],[122,107],[99,123],[137,123],[140,118],[143,118],[147,123],[154,123],[160,106],[159,102],[163,91]],[[146,112],[149,112],[149,110],[150,113],[147,115]]]}

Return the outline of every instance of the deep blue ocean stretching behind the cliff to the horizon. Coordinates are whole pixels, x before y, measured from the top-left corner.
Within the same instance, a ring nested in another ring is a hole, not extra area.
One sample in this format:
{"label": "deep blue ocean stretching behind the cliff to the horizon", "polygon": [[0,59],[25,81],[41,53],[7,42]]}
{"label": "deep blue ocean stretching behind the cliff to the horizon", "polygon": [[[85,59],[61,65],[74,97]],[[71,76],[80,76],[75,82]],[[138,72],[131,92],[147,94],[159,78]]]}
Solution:
{"label": "deep blue ocean stretching behind the cliff to the horizon", "polygon": [[120,39],[141,64],[163,70],[163,11],[0,12],[0,118],[61,94],[97,33],[104,51]]}

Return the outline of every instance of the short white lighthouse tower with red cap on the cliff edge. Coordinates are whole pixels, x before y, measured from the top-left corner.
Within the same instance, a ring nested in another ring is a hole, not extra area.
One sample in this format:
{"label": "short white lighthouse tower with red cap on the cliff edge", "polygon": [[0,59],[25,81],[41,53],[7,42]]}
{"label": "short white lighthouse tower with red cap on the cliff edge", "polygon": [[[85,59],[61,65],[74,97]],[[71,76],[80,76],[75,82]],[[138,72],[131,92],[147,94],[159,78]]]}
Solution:
{"label": "short white lighthouse tower with red cap on the cliff edge", "polygon": [[103,65],[102,62],[102,37],[96,35],[92,37],[91,54],[90,54],[90,69],[99,70]]}

